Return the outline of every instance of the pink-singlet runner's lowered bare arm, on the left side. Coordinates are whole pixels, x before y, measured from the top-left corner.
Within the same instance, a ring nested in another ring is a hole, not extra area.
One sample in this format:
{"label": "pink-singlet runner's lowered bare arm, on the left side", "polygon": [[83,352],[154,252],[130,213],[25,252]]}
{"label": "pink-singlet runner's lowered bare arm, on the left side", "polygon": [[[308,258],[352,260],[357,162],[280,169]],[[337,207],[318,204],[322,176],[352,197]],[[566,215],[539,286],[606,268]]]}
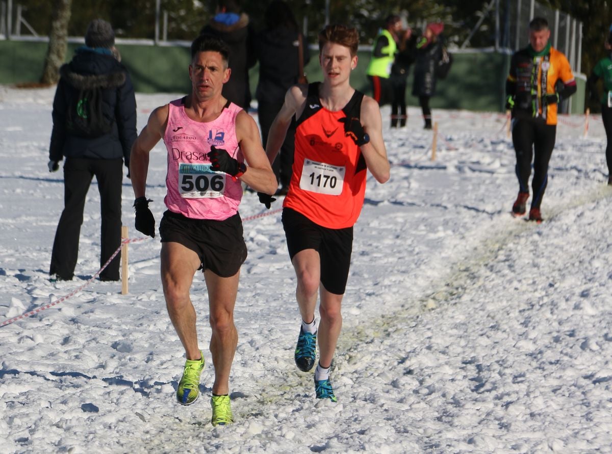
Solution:
{"label": "pink-singlet runner's lowered bare arm, on the left side", "polygon": [[146,126],[132,145],[130,177],[136,199],[144,196],[147,173],[149,172],[149,152],[163,136],[168,121],[168,112],[168,105],[160,106],[152,111]]}

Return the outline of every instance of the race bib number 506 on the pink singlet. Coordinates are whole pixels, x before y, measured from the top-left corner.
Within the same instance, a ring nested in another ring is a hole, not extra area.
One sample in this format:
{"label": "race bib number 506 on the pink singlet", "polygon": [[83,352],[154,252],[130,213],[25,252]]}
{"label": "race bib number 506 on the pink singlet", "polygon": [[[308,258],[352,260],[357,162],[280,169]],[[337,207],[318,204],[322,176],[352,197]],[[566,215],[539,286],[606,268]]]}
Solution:
{"label": "race bib number 506 on the pink singlet", "polygon": [[179,163],[181,197],[217,198],[225,192],[225,172],[211,170],[210,164]]}

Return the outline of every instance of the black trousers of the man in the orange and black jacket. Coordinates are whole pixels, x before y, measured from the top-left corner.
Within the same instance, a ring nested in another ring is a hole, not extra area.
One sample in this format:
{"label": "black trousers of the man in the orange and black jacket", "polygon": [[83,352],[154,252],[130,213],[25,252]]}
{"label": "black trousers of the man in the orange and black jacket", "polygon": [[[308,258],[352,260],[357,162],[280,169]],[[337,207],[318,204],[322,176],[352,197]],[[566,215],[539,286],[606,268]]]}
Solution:
{"label": "black trousers of the man in the orange and black jacket", "polygon": [[547,125],[542,119],[515,118],[512,120],[512,144],[517,154],[517,178],[521,192],[529,192],[531,162],[534,177],[531,181],[531,207],[539,208],[548,184],[548,162],[553,154],[557,125]]}

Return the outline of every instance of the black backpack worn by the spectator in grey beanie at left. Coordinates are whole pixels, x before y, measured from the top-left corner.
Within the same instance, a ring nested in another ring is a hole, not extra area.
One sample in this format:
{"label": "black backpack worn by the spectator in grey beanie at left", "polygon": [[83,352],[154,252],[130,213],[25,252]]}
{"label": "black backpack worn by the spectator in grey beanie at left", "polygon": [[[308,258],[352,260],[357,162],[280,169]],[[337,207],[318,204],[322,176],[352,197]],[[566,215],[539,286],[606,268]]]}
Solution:
{"label": "black backpack worn by the spectator in grey beanie at left", "polygon": [[96,138],[113,130],[114,117],[105,116],[102,109],[103,88],[78,90],[69,106],[66,127],[70,134],[83,138]]}

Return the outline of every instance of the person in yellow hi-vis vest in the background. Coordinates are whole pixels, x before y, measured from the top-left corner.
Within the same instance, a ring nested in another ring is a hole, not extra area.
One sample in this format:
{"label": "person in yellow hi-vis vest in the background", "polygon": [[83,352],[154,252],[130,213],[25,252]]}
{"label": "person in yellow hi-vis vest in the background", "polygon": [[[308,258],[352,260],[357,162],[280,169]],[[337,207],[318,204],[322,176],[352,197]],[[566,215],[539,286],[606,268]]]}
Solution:
{"label": "person in yellow hi-vis vest in the background", "polygon": [[401,29],[401,17],[390,15],[385,20],[385,28],[381,29],[374,40],[366,74],[372,87],[372,97],[381,106],[393,100],[393,87],[389,76],[395,52],[397,52],[398,35]]}

